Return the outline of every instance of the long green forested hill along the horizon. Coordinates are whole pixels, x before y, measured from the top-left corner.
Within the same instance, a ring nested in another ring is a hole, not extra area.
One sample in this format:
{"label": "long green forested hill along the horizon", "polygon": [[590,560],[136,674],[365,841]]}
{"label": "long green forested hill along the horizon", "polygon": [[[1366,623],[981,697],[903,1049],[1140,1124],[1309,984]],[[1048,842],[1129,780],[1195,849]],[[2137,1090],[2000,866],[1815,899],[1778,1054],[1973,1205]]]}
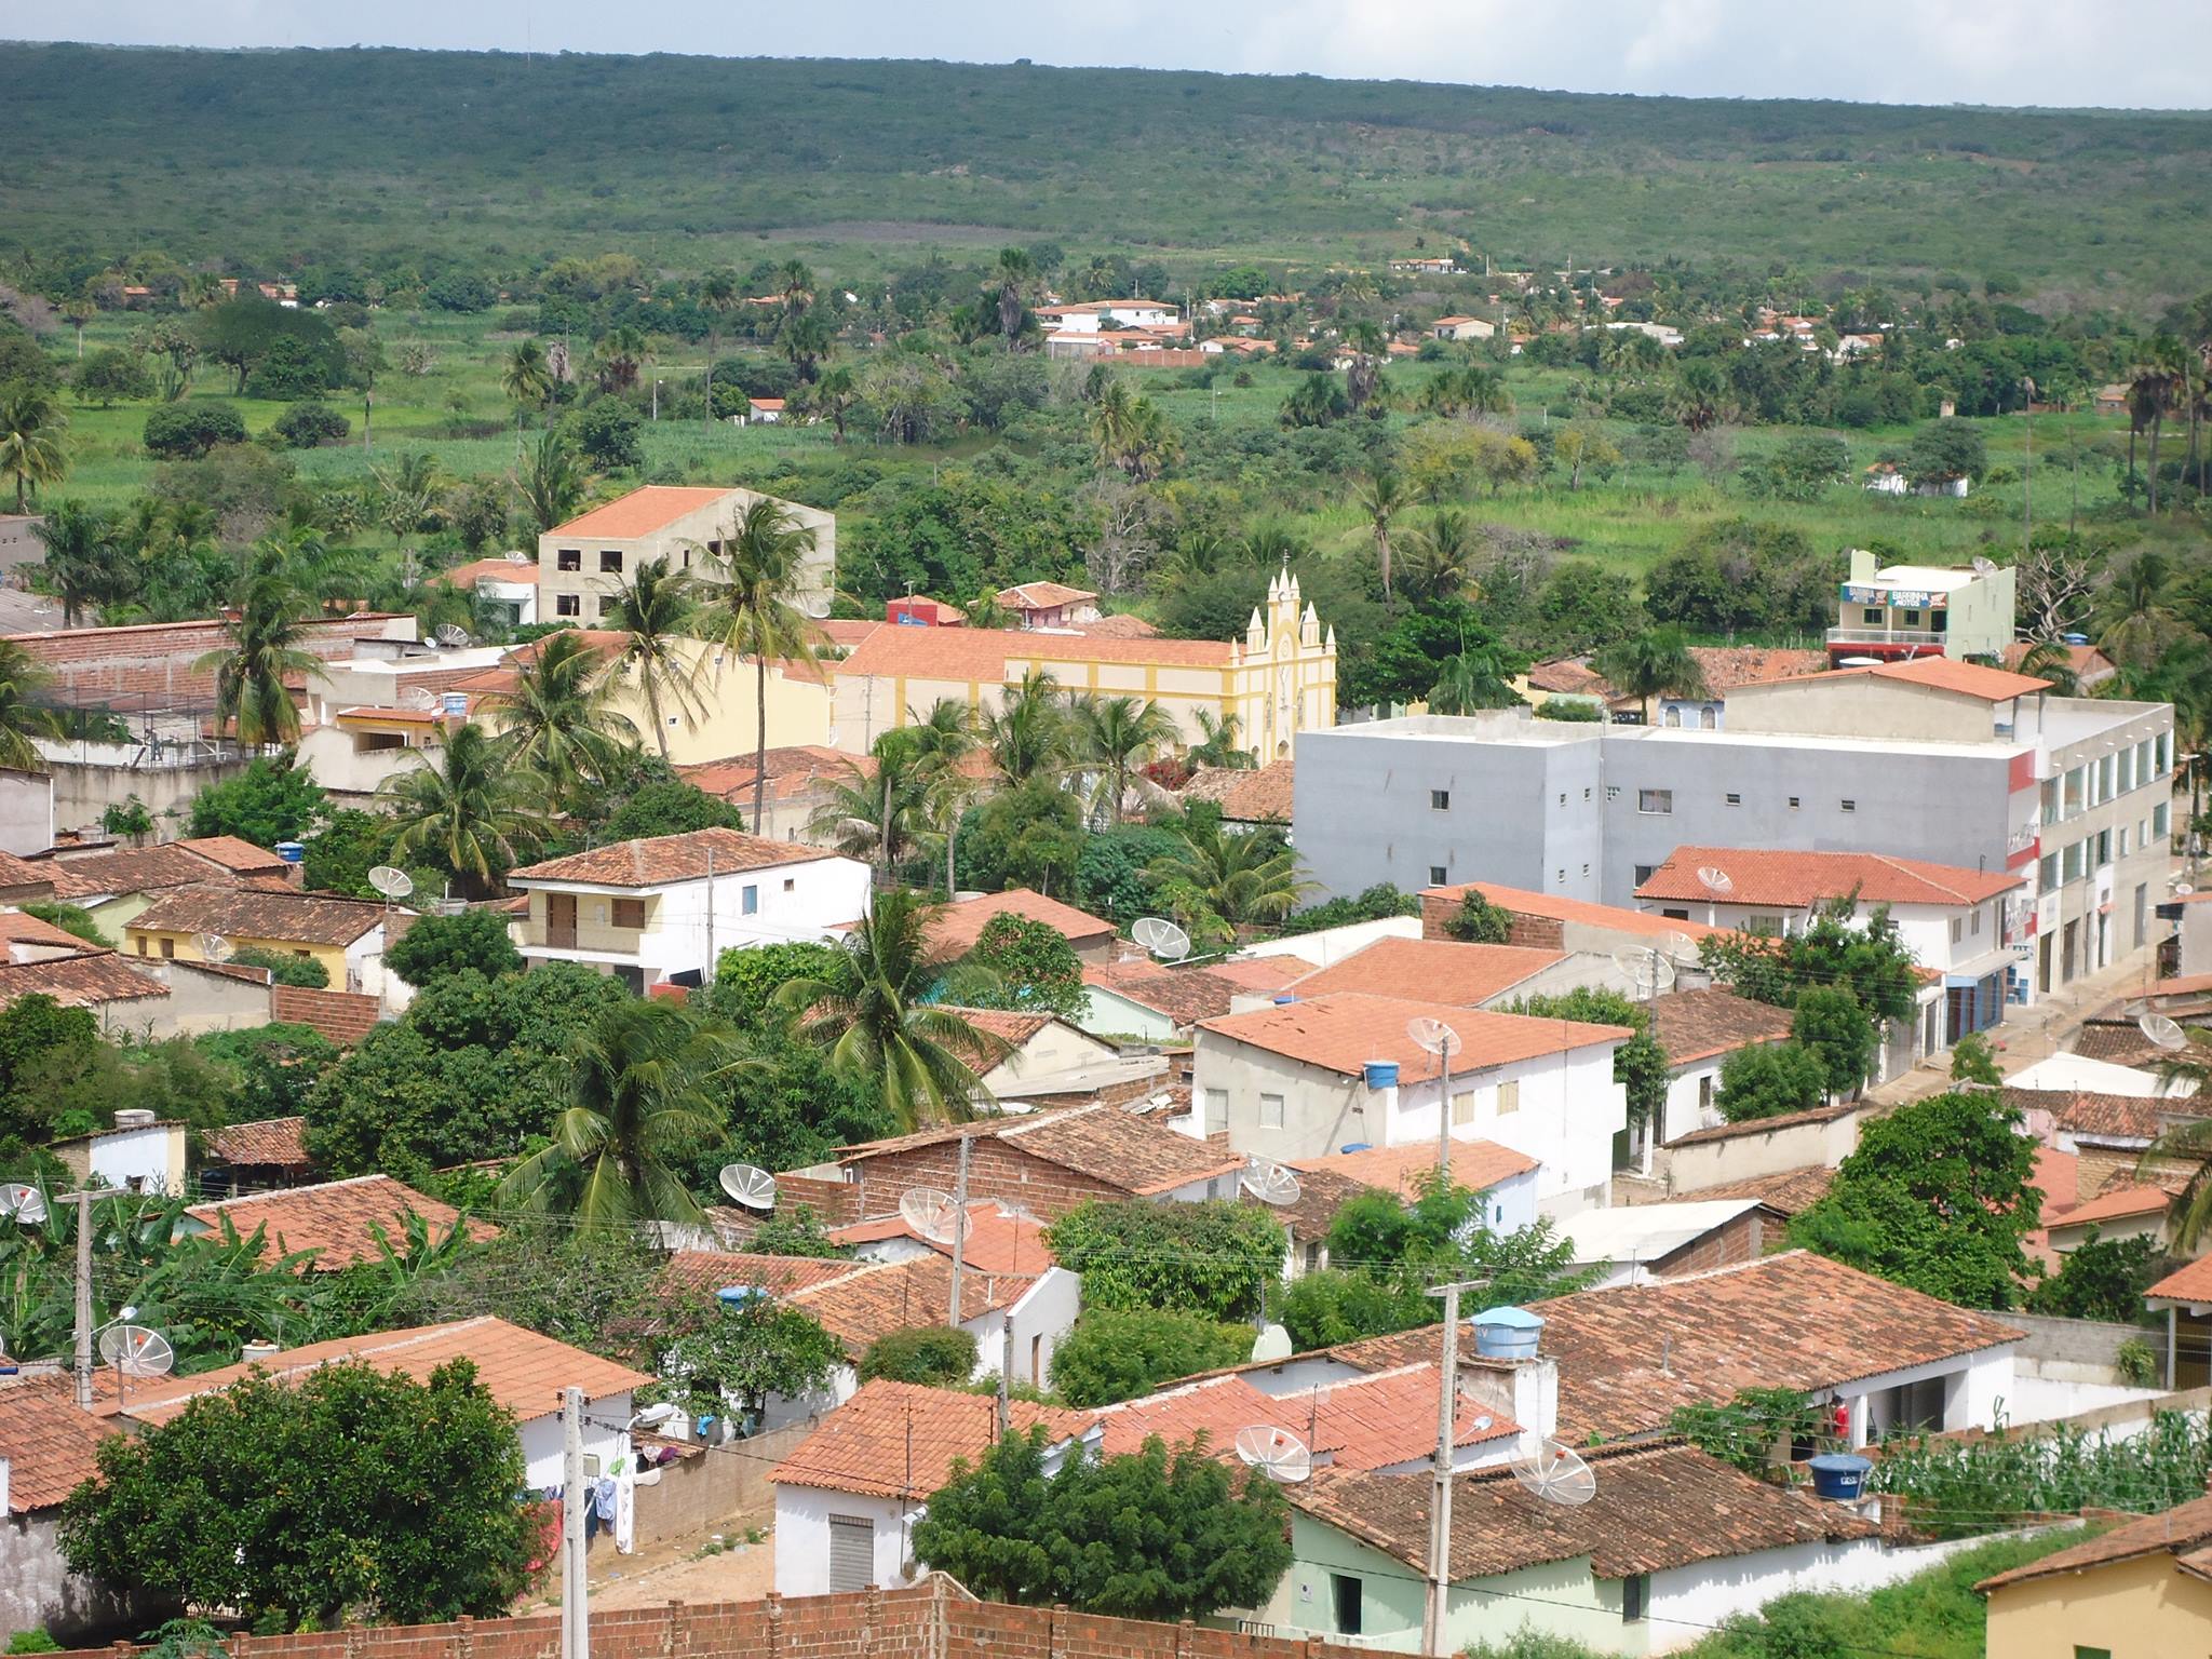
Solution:
{"label": "long green forested hill along the horizon", "polygon": [[2197,292],[2212,119],[1029,64],[9,46],[0,228],[257,268],[1048,237]]}

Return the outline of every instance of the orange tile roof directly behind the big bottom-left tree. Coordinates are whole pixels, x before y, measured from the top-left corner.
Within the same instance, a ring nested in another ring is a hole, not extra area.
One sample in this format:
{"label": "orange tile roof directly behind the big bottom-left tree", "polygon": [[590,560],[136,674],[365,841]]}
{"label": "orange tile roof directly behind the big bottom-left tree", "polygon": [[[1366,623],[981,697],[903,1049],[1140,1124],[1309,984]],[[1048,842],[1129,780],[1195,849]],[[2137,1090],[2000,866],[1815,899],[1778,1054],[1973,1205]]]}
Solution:
{"label": "orange tile roof directly behind the big bottom-left tree", "polygon": [[[407,1332],[374,1336],[341,1336],[330,1343],[307,1343],[254,1365],[226,1365],[219,1371],[133,1383],[124,1416],[135,1422],[168,1422],[204,1394],[219,1394],[243,1383],[248,1371],[263,1369],[276,1380],[296,1380],[323,1365],[363,1360],[385,1374],[405,1374],[427,1383],[447,1360],[476,1360],[478,1385],[520,1422],[551,1416],[560,1409],[560,1391],[584,1389],[586,1400],[606,1400],[639,1389],[653,1378],[628,1365],[602,1360],[551,1336],[509,1325],[504,1318],[460,1318],[449,1325],[420,1325]],[[111,1402],[106,1407],[115,1411]]]}

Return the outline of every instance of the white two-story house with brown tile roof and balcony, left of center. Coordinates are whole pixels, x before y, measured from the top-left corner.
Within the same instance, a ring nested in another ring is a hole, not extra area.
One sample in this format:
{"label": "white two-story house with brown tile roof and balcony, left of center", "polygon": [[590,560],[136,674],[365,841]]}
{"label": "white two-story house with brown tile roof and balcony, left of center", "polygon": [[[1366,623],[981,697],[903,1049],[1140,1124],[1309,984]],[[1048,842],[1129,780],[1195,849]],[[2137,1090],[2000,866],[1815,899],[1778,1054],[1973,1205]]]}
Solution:
{"label": "white two-story house with brown tile roof and balcony, left of center", "polygon": [[526,865],[522,956],[584,962],[635,991],[699,984],[721,951],[830,940],[867,916],[867,865],[737,830],[617,841]]}

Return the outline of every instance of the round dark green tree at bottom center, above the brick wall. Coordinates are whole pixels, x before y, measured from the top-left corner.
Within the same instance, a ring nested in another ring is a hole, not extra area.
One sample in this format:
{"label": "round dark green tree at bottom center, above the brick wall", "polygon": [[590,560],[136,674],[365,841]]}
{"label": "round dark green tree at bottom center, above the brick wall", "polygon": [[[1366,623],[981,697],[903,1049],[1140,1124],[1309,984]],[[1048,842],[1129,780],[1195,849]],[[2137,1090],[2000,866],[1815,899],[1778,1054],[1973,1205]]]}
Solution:
{"label": "round dark green tree at bottom center, above the brick wall", "polygon": [[1194,1619],[1265,1601],[1290,1566],[1287,1504],[1256,1469],[1159,1440],[1044,1473],[1044,1431],[1006,1436],[929,1500],[914,1553],[995,1601]]}

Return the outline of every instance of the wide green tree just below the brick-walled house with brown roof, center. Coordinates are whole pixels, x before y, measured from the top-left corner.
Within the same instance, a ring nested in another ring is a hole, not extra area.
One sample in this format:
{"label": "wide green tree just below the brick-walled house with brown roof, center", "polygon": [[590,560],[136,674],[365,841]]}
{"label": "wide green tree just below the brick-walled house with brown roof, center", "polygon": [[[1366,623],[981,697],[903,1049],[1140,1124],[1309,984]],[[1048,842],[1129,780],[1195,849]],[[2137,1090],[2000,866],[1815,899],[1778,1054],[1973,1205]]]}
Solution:
{"label": "wide green tree just below the brick-walled house with brown roof, center", "polygon": [[1093,1199],[1060,1217],[1046,1243],[1062,1267],[1082,1276],[1084,1307],[1152,1307],[1210,1321],[1259,1312],[1290,1250],[1281,1221],[1232,1199]]}

